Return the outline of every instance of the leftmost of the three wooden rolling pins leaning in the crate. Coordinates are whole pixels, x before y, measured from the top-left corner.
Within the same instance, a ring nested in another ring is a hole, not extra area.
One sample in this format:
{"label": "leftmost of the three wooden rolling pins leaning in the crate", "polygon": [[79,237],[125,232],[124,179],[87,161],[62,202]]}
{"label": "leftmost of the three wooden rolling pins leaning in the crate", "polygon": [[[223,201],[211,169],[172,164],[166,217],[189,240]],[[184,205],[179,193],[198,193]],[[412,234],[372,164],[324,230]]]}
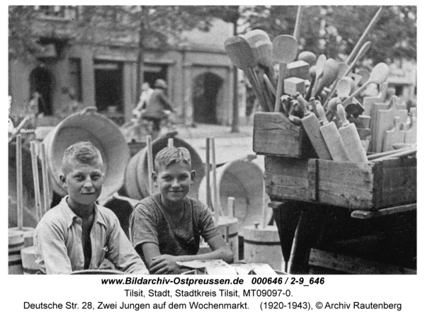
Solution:
{"label": "leftmost of the three wooden rolling pins leaning in the crate", "polygon": [[312,142],[317,156],[319,156],[319,159],[331,160],[332,156],[329,153],[326,142],[324,142],[322,133],[320,132],[319,120],[317,120],[314,113],[310,113],[310,111],[307,110],[307,104],[300,94],[297,94],[297,101],[302,113],[304,113],[304,117],[301,118],[302,127],[304,127],[310,142]]}

